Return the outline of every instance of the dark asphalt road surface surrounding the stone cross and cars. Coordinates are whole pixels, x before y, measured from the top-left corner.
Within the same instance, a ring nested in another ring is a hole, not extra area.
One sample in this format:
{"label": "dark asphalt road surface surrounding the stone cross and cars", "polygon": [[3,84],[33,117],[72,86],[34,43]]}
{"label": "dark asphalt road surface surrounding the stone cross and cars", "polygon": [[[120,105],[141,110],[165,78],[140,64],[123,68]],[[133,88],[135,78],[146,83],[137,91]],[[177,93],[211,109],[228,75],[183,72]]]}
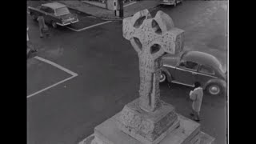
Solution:
{"label": "dark asphalt road surface surrounding the stone cross and cars", "polygon": [[[158,10],[170,14],[175,26],[186,30],[185,49],[214,54],[225,65],[225,3],[186,1]],[[90,25],[98,21],[101,20]],[[130,42],[122,38],[120,22],[108,22],[79,32],[50,27],[48,39],[39,38],[38,23],[30,16],[27,23],[38,57],[49,61],[28,60],[28,95],[53,86],[27,98],[27,143],[78,143],[93,134],[94,126],[138,98],[138,56]],[[70,78],[67,70],[78,75]],[[54,86],[66,78],[70,79]],[[160,88],[162,100],[189,118],[191,88],[176,84]],[[226,142],[225,100],[224,96],[205,95],[202,102],[202,131],[216,138],[219,144]]]}

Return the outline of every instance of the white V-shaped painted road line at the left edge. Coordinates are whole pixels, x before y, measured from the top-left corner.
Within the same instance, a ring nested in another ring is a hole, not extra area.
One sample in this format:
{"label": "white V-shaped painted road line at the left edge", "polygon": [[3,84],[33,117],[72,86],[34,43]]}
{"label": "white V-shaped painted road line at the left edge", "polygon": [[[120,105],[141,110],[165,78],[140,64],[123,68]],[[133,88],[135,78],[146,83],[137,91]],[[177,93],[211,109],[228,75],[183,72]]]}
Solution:
{"label": "white V-shaped painted road line at the left edge", "polygon": [[34,96],[34,95],[36,95],[36,94],[42,93],[42,92],[45,91],[45,90],[48,90],[48,89],[50,89],[50,88],[52,88],[52,87],[54,87],[54,86],[57,86],[57,85],[61,84],[62,82],[66,82],[66,81],[70,80],[71,78],[74,78],[74,77],[78,76],[78,74],[74,73],[74,72],[71,71],[71,70],[67,70],[67,69],[66,69],[65,67],[63,67],[63,66],[59,66],[57,63],[50,62],[49,60],[44,59],[44,58],[41,58],[41,57],[38,57],[38,56],[36,56],[36,57],[34,57],[34,58],[36,58],[36,59],[38,59],[38,60],[40,60],[40,61],[42,61],[42,62],[46,62],[46,63],[48,63],[48,64],[50,64],[50,65],[52,65],[52,66],[55,66],[55,67],[57,67],[58,69],[63,70],[63,71],[65,71],[65,72],[68,73],[68,74],[71,74],[72,76],[71,76],[70,78],[66,78],[66,79],[64,79],[64,80],[62,80],[62,81],[60,81],[60,82],[54,83],[53,85],[48,86],[48,87],[46,87],[46,88],[44,88],[44,89],[42,89],[42,90],[38,90],[37,92],[26,96],[26,98],[30,98],[30,97],[32,97],[32,96]]}

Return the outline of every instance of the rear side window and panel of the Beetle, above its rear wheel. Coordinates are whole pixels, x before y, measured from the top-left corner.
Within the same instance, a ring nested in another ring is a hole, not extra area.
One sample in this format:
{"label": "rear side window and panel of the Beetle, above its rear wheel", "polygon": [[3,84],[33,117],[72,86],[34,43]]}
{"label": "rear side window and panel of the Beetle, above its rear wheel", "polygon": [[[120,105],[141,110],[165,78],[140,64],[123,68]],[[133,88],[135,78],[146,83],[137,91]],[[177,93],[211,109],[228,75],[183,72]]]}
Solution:
{"label": "rear side window and panel of the Beetle, above its rear wheel", "polygon": [[210,79],[217,78],[215,71],[210,66],[200,65],[198,68],[197,81],[204,85]]}

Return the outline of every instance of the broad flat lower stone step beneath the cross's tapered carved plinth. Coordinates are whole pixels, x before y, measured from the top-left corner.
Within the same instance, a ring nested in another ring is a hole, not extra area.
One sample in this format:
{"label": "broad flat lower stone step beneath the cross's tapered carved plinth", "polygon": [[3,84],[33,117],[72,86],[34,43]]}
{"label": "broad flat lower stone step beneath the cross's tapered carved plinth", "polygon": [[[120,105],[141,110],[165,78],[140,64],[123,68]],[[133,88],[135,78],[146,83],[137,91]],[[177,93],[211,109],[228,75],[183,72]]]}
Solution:
{"label": "broad flat lower stone step beneath the cross's tapered carved plinth", "polygon": [[[142,142],[119,130],[116,123],[119,116],[120,113],[96,126],[94,140],[90,144],[142,144]],[[167,133],[166,137],[158,142],[159,144],[213,144],[214,138],[202,133],[199,123],[179,114],[178,121],[180,126]]]}

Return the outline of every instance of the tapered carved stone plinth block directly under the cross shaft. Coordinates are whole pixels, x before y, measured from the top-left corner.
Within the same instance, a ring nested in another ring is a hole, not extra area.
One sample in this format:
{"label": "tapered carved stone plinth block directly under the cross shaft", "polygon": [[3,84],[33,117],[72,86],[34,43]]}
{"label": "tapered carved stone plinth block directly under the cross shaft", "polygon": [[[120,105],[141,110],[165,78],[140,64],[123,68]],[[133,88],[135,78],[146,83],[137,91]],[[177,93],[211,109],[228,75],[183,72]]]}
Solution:
{"label": "tapered carved stone plinth block directly under the cross shaft", "polygon": [[116,122],[119,130],[146,144],[157,144],[179,126],[173,106],[160,101],[157,110],[146,112],[140,108],[139,98],[124,106]]}

